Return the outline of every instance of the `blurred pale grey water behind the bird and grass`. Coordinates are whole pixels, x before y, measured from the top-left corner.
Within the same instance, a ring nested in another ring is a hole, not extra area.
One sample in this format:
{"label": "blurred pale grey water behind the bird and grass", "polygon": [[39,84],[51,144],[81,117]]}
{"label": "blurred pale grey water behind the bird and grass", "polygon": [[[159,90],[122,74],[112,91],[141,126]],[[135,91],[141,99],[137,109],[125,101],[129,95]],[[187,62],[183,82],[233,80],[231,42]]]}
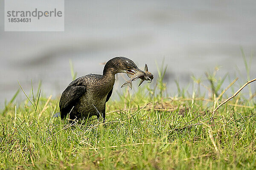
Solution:
{"label": "blurred pale grey water behind the bird and grass", "polygon": [[[204,73],[215,66],[219,77],[229,73],[223,88],[239,77],[238,88],[247,80],[242,47],[256,77],[255,0],[66,0],[64,32],[5,32],[3,15],[1,0],[0,108],[19,88],[17,80],[27,93],[32,79],[34,87],[42,81],[44,96],[60,96],[72,81],[69,59],[80,77],[102,74],[99,63],[125,56],[140,68],[147,63],[155,79],[156,62],[164,59],[164,81],[175,95],[175,80],[186,87],[194,75],[207,84]],[[113,99],[126,90],[124,82],[117,77]],[[25,99],[22,92],[17,99]]]}

